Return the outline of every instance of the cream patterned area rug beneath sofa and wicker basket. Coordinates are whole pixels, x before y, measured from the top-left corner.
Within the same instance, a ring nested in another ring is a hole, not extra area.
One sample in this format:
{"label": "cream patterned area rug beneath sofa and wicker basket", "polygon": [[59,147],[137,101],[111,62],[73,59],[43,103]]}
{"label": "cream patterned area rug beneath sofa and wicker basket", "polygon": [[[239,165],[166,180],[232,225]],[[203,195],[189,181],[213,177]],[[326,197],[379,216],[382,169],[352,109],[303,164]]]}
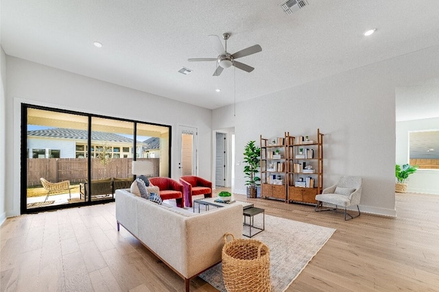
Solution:
{"label": "cream patterned area rug beneath sofa and wicker basket", "polygon": [[[262,225],[261,218],[254,217],[256,226]],[[270,249],[272,291],[285,291],[334,232],[333,228],[265,215],[265,230],[252,239],[262,241]],[[221,263],[201,273],[200,278],[226,292]]]}

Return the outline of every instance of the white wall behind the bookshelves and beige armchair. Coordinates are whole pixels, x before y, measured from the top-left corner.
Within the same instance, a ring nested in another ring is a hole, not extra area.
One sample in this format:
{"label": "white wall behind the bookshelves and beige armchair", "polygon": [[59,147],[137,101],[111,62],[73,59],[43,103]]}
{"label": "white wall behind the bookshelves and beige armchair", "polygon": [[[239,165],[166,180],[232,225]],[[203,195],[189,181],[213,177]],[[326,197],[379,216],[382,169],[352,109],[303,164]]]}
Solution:
{"label": "white wall behind the bookshelves and beige armchair", "polygon": [[[237,163],[250,140],[324,134],[324,187],[340,175],[364,179],[360,209],[396,215],[394,204],[395,88],[439,76],[439,47],[214,110],[213,129],[235,125]],[[265,118],[264,118],[265,117]],[[235,190],[245,193],[244,165]]]}

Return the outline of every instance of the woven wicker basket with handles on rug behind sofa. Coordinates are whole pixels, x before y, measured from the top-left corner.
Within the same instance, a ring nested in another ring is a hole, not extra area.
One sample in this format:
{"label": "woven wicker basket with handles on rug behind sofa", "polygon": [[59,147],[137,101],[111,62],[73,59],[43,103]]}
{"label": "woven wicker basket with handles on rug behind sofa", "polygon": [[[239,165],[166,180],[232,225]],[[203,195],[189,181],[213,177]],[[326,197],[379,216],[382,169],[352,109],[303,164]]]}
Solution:
{"label": "woven wicker basket with handles on rug behind sofa", "polygon": [[[227,236],[232,241],[227,241]],[[224,234],[222,274],[229,292],[271,291],[270,250],[256,239],[235,239]]]}

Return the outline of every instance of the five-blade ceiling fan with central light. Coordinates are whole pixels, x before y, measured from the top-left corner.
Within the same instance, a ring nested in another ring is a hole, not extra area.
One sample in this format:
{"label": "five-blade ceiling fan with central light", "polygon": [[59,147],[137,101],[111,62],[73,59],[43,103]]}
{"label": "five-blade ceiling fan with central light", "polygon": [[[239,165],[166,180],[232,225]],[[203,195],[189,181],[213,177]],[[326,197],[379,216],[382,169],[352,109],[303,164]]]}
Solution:
{"label": "five-blade ceiling fan with central light", "polygon": [[217,58],[194,58],[194,59],[187,59],[189,62],[202,62],[202,61],[217,61],[218,67],[213,73],[213,76],[219,76],[219,74],[222,73],[224,68],[228,68],[230,66],[235,66],[238,69],[244,70],[248,73],[254,70],[252,66],[248,66],[247,64],[241,63],[236,61],[237,58],[242,58],[245,56],[252,55],[254,53],[258,53],[262,51],[262,48],[260,45],[253,45],[251,47],[248,47],[246,49],[241,49],[241,51],[237,51],[236,53],[230,54],[227,52],[227,40],[230,37],[230,34],[227,32],[222,34],[222,38],[225,41],[226,48],[222,46],[221,40],[219,40],[219,37],[216,35],[210,35],[209,38],[212,41],[214,49],[219,53],[219,56]]}

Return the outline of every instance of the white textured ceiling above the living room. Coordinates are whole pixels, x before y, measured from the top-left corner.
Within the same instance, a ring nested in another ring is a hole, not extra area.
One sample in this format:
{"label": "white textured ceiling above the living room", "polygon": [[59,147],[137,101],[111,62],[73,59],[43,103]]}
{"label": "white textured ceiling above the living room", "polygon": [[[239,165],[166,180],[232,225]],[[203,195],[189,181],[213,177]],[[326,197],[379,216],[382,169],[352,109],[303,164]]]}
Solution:
{"label": "white textured ceiling above the living room", "polygon": [[[10,56],[213,109],[439,44],[437,0],[308,2],[287,15],[280,0],[1,0],[1,46]],[[215,62],[187,61],[215,58],[208,36],[224,32],[230,53],[261,45],[239,59],[252,73],[232,67],[213,77]],[[193,73],[178,73],[182,66]]]}

